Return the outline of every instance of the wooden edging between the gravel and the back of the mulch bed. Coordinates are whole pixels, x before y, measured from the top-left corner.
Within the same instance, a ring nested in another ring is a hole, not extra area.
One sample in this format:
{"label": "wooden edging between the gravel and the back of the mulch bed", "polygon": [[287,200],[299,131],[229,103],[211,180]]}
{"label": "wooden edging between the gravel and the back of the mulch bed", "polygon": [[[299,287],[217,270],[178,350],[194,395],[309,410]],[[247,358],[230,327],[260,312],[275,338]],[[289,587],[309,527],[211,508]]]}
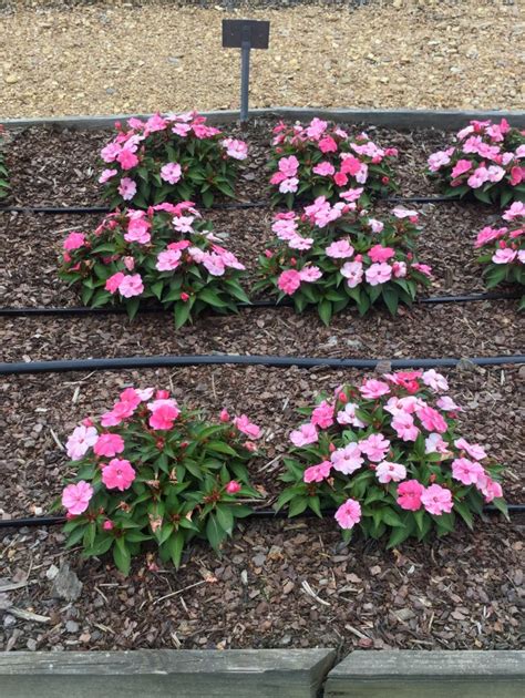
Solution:
{"label": "wooden edging between the gravel and the back of the mulch bed", "polygon": [[[231,123],[239,117],[238,111],[202,112],[210,123]],[[58,116],[43,119],[8,119],[3,121],[6,129],[28,129],[30,126],[51,126],[54,129],[113,129],[115,121],[126,121],[132,116],[148,119],[151,114],[116,114],[114,116]],[[525,111],[472,111],[472,110],[366,110],[366,109],[299,109],[292,106],[276,106],[271,109],[250,110],[251,117],[282,117],[308,121],[319,116],[330,121],[349,124],[371,124],[374,126],[390,126],[392,129],[462,129],[472,119],[501,120],[505,117],[511,125],[525,127]],[[1,117],[0,117],[1,121]]]}

